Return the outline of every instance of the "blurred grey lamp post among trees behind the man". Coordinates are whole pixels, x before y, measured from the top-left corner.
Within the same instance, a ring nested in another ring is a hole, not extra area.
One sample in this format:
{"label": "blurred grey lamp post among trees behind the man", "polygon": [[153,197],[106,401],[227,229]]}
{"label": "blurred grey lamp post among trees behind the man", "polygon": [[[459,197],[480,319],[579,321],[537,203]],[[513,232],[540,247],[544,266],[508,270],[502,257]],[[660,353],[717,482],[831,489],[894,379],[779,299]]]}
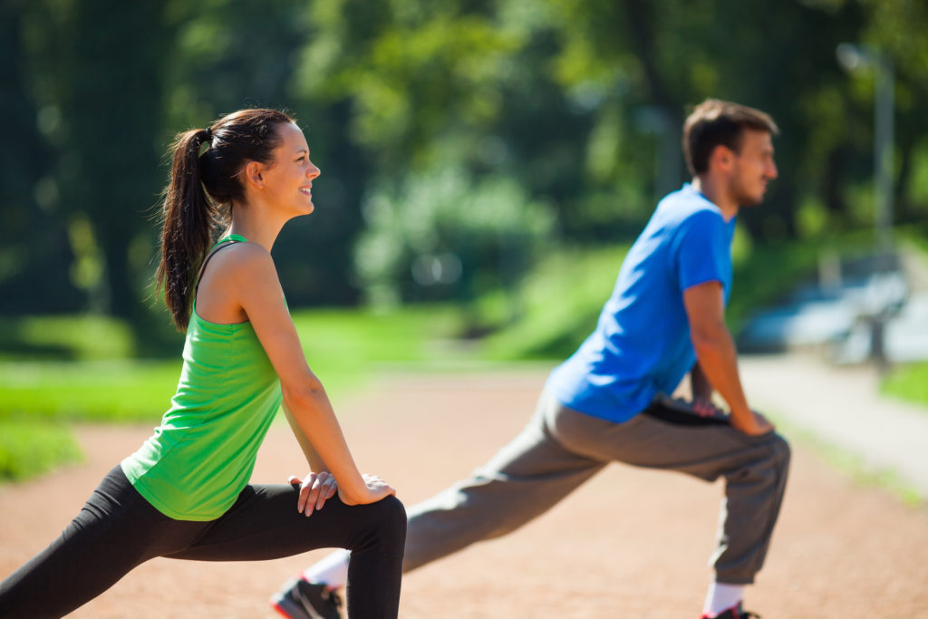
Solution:
{"label": "blurred grey lamp post among trees behind the man", "polygon": [[873,69],[875,92],[873,103],[873,167],[875,225],[878,253],[893,248],[893,134],[894,90],[893,62],[868,45],[842,43],[835,50],[845,71]]}

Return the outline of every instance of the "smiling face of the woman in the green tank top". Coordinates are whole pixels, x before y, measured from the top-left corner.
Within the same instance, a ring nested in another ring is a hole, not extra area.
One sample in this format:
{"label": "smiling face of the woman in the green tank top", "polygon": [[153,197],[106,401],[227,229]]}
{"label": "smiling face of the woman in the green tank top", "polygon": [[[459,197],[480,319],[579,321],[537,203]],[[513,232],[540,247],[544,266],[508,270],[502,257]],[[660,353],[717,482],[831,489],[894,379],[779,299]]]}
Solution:
{"label": "smiling face of the woman in the green tank top", "polygon": [[264,168],[264,191],[268,201],[290,216],[312,213],[313,180],[319,169],[309,160],[309,146],[303,130],[294,123],[277,126],[280,144],[274,161]]}

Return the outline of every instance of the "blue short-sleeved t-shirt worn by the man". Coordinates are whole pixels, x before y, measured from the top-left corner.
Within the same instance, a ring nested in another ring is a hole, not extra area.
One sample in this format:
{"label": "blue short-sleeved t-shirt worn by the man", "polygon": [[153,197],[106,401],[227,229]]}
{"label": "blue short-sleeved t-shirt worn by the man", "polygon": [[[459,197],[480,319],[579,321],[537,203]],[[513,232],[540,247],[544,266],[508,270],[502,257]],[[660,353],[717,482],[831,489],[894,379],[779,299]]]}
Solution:
{"label": "blue short-sleeved t-shirt worn by the man", "polygon": [[561,404],[622,422],[658,393],[673,393],[696,360],[683,290],[706,281],[731,290],[731,239],[715,204],[684,185],[657,205],[619,270],[599,324],[551,372]]}

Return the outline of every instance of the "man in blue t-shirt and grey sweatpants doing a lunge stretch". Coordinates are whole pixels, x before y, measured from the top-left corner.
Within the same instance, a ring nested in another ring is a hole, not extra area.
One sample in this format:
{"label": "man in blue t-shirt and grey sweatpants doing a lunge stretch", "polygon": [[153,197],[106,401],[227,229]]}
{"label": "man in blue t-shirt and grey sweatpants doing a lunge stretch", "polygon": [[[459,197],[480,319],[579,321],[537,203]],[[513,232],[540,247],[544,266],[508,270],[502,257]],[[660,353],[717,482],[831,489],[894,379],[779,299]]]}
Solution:
{"label": "man in blue t-shirt and grey sweatpants doing a lunge stretch", "polygon": [[[749,616],[742,592],[767,554],[790,448],[748,406],[724,310],[735,216],[777,177],[777,133],[767,114],[738,104],[709,99],[692,111],[683,128],[692,182],[658,204],[597,329],[551,373],[525,430],[470,479],[409,510],[404,571],[505,535],[625,462],[726,479],[702,617]],[[666,395],[688,371],[691,405]],[[710,404],[714,390],[728,415]],[[292,617],[337,617],[346,565],[347,553],[329,556],[272,603]],[[314,605],[316,614],[304,610]]]}

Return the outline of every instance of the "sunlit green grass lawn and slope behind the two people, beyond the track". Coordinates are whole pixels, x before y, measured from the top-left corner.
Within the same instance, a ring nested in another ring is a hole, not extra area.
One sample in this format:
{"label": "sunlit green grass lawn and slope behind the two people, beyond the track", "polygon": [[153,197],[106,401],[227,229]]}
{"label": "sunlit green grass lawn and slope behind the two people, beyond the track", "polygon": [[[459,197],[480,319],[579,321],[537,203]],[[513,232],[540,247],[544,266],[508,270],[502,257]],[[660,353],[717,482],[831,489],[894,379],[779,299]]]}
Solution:
{"label": "sunlit green grass lawn and slope behind the two people, beyond the track", "polygon": [[[737,332],[754,307],[814,274],[823,247],[846,250],[868,242],[848,237],[736,251],[729,327]],[[385,368],[460,371],[486,362],[561,360],[595,328],[627,249],[616,244],[552,252],[515,290],[463,306],[303,310],[293,319],[310,368],[336,402]],[[0,436],[34,431],[34,441],[19,442],[47,442],[49,453],[70,458],[55,438],[66,431],[50,423],[155,425],[170,406],[182,345],[162,346],[176,347],[171,359],[140,360],[132,358],[137,346],[131,329],[112,318],[0,319]],[[925,366],[900,368],[884,389],[924,402],[926,374]]]}

